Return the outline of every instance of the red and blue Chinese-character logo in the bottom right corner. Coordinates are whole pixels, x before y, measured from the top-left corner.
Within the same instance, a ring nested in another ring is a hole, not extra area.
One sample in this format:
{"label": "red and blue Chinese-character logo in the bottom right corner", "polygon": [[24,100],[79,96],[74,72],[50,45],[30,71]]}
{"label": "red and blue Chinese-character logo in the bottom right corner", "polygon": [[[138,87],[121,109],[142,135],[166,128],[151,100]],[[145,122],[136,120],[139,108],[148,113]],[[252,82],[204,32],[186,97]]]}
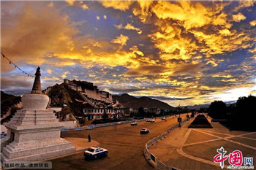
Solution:
{"label": "red and blue Chinese-character logo in the bottom right corner", "polygon": [[[254,169],[253,158],[252,157],[244,157],[240,150],[234,150],[230,152],[230,154],[225,155],[227,151],[224,150],[223,147],[217,149],[218,154],[214,156],[214,162],[219,163],[219,166],[224,168],[224,161],[228,159],[228,163],[230,166],[227,166],[227,169]],[[244,161],[244,166],[242,166]],[[249,165],[249,166],[247,166]]]}

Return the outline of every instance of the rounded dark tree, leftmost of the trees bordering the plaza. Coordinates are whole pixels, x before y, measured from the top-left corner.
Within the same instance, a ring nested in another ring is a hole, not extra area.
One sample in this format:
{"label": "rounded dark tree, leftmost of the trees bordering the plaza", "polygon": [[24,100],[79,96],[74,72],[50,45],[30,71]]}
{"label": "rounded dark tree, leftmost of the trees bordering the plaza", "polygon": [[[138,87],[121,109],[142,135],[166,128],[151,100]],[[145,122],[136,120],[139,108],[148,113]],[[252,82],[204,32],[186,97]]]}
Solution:
{"label": "rounded dark tree, leftmost of the trees bordering the plaza", "polygon": [[227,107],[223,101],[211,102],[209,107],[209,116],[217,119],[222,119],[227,117]]}

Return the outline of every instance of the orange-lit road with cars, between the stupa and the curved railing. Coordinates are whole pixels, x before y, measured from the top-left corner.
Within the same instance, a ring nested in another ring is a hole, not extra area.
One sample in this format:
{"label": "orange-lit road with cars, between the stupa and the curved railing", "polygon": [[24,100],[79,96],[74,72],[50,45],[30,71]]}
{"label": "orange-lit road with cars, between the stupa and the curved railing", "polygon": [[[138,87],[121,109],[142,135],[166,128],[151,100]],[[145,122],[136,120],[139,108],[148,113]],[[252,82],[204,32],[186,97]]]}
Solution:
{"label": "orange-lit road with cars, between the stupa and the curved railing", "polygon": [[[186,115],[181,115],[182,120]],[[167,121],[157,119],[155,123],[140,122],[131,126],[129,123],[94,128],[84,131],[61,133],[61,137],[86,138],[99,142],[100,147],[108,149],[108,155],[97,160],[84,160],[83,151],[62,158],[51,160],[53,169],[154,169],[143,156],[143,149],[148,140],[164,133],[167,128],[177,123],[177,117],[167,117]],[[141,128],[148,128],[149,134],[140,134]]]}

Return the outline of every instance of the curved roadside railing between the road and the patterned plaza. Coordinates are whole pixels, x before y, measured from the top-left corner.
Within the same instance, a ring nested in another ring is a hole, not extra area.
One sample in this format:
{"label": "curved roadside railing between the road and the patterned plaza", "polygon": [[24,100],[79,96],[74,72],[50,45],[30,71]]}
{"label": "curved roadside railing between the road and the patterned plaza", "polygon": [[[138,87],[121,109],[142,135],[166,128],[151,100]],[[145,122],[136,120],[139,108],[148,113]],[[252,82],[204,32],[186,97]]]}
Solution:
{"label": "curved roadside railing between the road and the patterned plaza", "polygon": [[[188,120],[188,119],[183,120],[183,121],[181,122],[181,124],[184,123],[184,122],[186,122],[187,120]],[[178,124],[179,124],[179,123],[177,123],[176,125],[173,125],[172,127],[168,128],[168,129],[167,129],[167,132],[165,132],[165,134],[161,134],[161,135],[159,135],[159,136],[157,136],[157,137],[154,137],[153,139],[149,140],[149,141],[146,143],[146,148],[145,148],[146,150],[145,150],[145,153],[144,153],[144,154],[147,155],[148,160],[154,161],[154,163],[156,163],[157,169],[160,169],[160,170],[178,170],[178,169],[173,168],[173,167],[171,167],[171,166],[165,165],[165,163],[162,163],[161,161],[159,161],[159,159],[157,159],[157,157],[156,157],[155,155],[153,155],[151,152],[148,151],[148,148],[149,148],[151,145],[153,145],[155,142],[158,142],[159,140],[164,139],[165,136],[167,136],[167,133],[170,133],[170,131],[173,131],[173,129],[175,129],[175,128],[178,127]]]}

